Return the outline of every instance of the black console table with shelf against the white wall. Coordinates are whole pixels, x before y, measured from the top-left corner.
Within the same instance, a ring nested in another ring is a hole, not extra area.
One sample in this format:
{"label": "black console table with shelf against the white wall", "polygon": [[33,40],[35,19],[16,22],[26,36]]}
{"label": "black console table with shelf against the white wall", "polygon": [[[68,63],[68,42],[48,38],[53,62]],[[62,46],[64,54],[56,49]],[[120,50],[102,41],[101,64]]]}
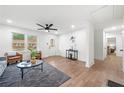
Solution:
{"label": "black console table with shelf against the white wall", "polygon": [[78,50],[66,50],[66,58],[72,59],[72,60],[77,60],[78,59]]}

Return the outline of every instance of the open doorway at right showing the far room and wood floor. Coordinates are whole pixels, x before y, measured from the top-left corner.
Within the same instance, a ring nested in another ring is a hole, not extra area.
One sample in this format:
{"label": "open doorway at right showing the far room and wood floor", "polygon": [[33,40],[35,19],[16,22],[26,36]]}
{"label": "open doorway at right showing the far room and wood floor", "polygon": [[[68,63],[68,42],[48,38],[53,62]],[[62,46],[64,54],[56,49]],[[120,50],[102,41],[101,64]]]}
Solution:
{"label": "open doorway at right showing the far room and wood floor", "polygon": [[[123,70],[123,34],[122,31],[104,31],[103,32],[103,53],[104,59],[112,60],[112,62],[118,62],[118,67]],[[119,68],[118,68],[119,69]],[[123,70],[124,71],[124,70]]]}

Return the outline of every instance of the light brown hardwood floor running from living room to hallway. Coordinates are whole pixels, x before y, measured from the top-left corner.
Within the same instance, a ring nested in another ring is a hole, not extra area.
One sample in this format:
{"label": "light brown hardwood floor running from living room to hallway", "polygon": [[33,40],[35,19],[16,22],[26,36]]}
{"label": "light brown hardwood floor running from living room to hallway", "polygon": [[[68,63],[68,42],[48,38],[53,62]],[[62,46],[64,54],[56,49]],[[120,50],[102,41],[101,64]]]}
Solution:
{"label": "light brown hardwood floor running from living room to hallway", "polygon": [[52,56],[46,62],[71,77],[60,87],[104,87],[107,80],[124,84],[124,72],[121,70],[121,58],[108,56],[105,61],[95,60],[90,68],[81,61],[72,61],[61,56]]}

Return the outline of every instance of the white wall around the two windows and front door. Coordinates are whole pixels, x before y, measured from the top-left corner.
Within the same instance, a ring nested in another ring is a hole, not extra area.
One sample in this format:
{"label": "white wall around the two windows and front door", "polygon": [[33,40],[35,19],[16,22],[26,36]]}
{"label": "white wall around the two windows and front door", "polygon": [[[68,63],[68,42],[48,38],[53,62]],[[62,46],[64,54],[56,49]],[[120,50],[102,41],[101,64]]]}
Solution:
{"label": "white wall around the two windows and front door", "polygon": [[[57,54],[57,51],[58,51],[57,36],[44,33],[44,32],[32,31],[28,29],[22,29],[18,27],[1,24],[0,25],[0,56],[4,56],[5,52],[12,50],[12,32],[23,33],[25,35],[36,35],[38,38],[37,49],[42,51],[43,57]],[[49,42],[51,38],[55,39],[56,47],[49,49],[46,43]]]}

